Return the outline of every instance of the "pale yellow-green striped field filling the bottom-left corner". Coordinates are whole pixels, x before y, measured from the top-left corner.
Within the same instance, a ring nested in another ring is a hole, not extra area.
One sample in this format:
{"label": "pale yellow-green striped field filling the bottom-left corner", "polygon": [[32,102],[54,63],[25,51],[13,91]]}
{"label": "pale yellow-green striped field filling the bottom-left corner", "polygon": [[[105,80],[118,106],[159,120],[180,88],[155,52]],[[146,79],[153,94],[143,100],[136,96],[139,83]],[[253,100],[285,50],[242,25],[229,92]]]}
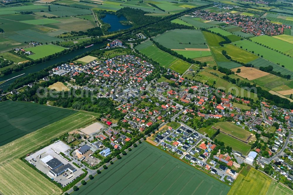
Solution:
{"label": "pale yellow-green striped field filling the bottom-left corner", "polygon": [[61,194],[62,190],[20,159],[14,159],[0,168],[3,194]]}

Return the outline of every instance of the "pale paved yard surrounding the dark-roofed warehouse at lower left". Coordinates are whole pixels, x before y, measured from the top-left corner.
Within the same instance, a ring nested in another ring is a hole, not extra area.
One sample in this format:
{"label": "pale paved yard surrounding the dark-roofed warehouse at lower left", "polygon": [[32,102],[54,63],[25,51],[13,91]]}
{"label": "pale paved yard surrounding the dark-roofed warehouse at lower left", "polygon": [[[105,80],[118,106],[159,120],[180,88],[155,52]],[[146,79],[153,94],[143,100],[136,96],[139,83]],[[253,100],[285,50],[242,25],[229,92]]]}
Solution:
{"label": "pale paved yard surrounding the dark-roofed warehouse at lower left", "polygon": [[[35,152],[34,154],[27,156],[25,158],[25,160],[31,161],[38,170],[40,170],[43,173],[45,173],[46,175],[48,175],[50,178],[54,179],[56,182],[59,182],[61,185],[66,185],[69,182],[73,181],[76,177],[78,177],[79,175],[84,173],[84,171],[82,171],[81,168],[78,168],[75,165],[73,165],[72,161],[68,162],[65,158],[62,158],[60,155],[55,153],[55,151],[58,153],[60,153],[60,152],[65,153],[69,149],[70,149],[70,147],[67,146],[65,143],[63,143],[62,141],[58,141],[57,143],[53,143],[50,146],[47,146],[47,147]],[[41,155],[41,158],[39,158],[40,155]],[[50,168],[48,168],[41,161],[42,158],[44,158],[48,155],[51,155],[53,158],[58,159],[64,165],[66,165],[67,163],[71,164],[74,168],[76,168],[76,171],[73,173],[71,173],[70,171],[66,171],[62,175],[59,175],[57,177],[52,176],[51,174],[49,174]]]}

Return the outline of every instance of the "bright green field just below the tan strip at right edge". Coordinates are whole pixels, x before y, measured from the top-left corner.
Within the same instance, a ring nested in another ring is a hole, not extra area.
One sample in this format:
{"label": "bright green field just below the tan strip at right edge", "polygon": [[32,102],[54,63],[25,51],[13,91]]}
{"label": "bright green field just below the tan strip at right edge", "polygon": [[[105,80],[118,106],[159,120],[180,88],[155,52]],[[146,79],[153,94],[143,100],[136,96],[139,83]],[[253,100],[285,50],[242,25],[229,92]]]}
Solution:
{"label": "bright green field just below the tan strip at right edge", "polygon": [[[289,54],[288,52],[293,49],[293,44],[277,39],[275,37],[271,37],[268,35],[262,35],[262,36],[257,36],[257,37],[253,37],[251,38],[251,40],[253,42],[258,42],[262,45],[266,45],[270,48],[276,49],[278,51],[281,51],[285,54]],[[293,40],[293,38],[291,39]],[[293,56],[293,55],[292,55]]]}

